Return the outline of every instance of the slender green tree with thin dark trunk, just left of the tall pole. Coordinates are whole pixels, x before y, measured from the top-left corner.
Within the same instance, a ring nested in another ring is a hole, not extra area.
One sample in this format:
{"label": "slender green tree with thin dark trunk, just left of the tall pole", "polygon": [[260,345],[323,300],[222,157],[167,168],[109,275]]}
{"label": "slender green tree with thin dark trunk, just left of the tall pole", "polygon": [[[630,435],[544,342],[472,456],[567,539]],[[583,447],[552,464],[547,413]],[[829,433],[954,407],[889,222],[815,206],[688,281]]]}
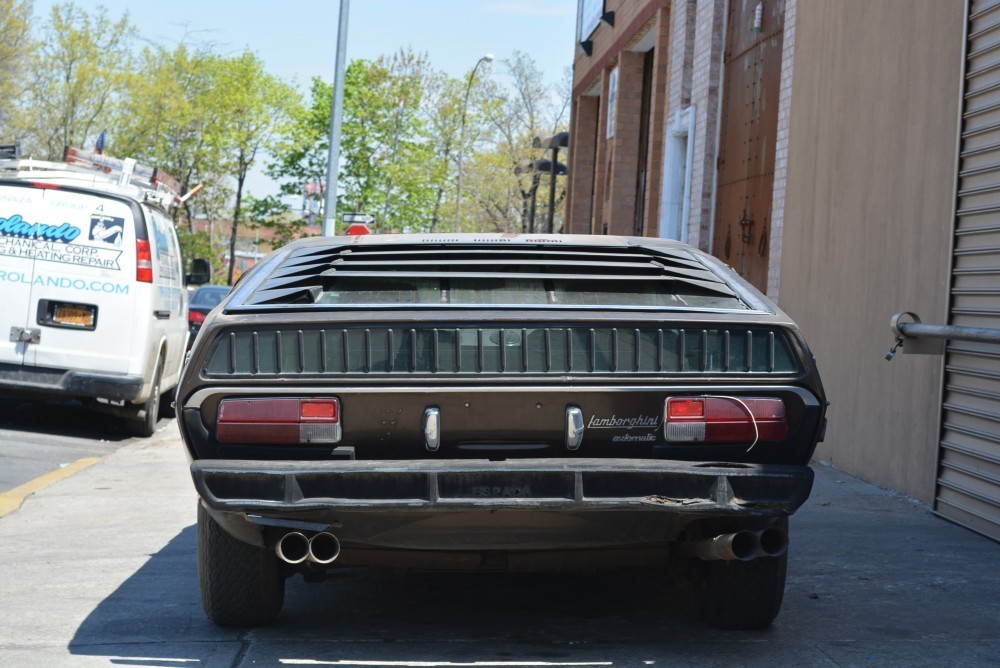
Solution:
{"label": "slender green tree with thin dark trunk, just left of the tall pole", "polygon": [[297,92],[264,70],[264,63],[251,51],[219,63],[218,87],[214,94],[221,116],[220,147],[236,181],[235,203],[229,236],[229,285],[236,267],[236,237],[242,222],[243,188],[247,174],[261,151],[270,147],[283,129]]}

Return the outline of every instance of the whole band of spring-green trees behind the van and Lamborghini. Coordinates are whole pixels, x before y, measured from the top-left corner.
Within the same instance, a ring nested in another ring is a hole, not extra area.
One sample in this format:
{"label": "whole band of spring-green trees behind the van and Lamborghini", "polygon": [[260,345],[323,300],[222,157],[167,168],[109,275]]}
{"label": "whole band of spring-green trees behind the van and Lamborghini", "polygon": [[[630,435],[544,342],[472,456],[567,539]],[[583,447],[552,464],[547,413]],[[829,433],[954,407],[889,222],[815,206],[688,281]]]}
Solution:
{"label": "whole band of spring-green trees behind the van and Lamborghini", "polygon": [[[0,108],[0,140],[21,139],[25,154],[59,159],[64,145],[90,148],[107,129],[109,154],[164,169],[182,192],[202,184],[180,207],[182,243],[188,257],[207,257],[220,272],[240,235],[242,250],[247,232],[255,249],[281,245],[323,216],[331,83],[314,79],[303,100],[249,50],[222,55],[187,40],[137,48],[128,15],[114,20],[99,5],[56,5],[33,35],[31,10],[32,0],[0,0],[0,99],[15,101]],[[377,232],[519,231],[531,177],[514,168],[543,157],[531,146],[536,135],[565,129],[568,99],[565,82],[546,85],[519,52],[460,77],[435,71],[412,49],[354,61],[337,209],[374,215]],[[281,196],[245,192],[265,153]],[[542,178],[537,229],[547,189]],[[303,199],[302,210],[292,197]],[[557,231],[561,224],[557,210]]]}

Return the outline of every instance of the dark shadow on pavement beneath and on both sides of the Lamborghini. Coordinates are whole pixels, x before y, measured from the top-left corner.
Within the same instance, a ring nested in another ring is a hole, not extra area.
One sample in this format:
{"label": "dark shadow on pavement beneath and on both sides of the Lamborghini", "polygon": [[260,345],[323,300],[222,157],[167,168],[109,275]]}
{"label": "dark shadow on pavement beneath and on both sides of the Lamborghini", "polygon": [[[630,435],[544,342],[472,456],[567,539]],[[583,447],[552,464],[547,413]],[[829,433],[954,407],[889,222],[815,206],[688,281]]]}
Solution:
{"label": "dark shadow on pavement beneath and on both sides of the Lamborghini", "polygon": [[246,631],[202,613],[191,526],[89,614],[69,649],[142,666],[995,663],[995,543],[836,471],[822,471],[792,536],[785,603],[763,632],[705,626],[690,587],[662,572],[355,568],[289,580],[277,623]]}

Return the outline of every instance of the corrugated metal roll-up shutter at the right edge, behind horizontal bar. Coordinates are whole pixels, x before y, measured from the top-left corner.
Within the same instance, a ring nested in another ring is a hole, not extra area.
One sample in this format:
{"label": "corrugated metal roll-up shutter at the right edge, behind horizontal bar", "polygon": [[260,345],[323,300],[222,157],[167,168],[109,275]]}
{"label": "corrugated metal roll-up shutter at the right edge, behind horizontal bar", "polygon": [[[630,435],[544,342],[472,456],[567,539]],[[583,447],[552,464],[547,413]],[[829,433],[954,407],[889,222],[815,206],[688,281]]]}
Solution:
{"label": "corrugated metal roll-up shutter at the right edge, behind horizontal bar", "polygon": [[[1000,0],[966,30],[949,322],[1000,328]],[[948,345],[935,509],[1000,540],[1000,341]]]}

